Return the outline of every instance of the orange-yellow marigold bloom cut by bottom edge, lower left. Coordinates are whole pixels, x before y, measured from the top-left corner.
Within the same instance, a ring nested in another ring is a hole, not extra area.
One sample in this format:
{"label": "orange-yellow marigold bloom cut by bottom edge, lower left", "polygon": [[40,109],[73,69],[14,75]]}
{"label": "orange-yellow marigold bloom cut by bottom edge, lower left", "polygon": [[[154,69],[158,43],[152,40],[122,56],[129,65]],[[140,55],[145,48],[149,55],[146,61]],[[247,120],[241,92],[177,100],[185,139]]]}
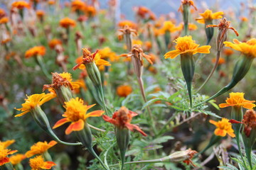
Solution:
{"label": "orange-yellow marigold bloom cut by bottom edge, lower left", "polygon": [[29,165],[31,166],[31,170],[43,170],[51,169],[51,167],[56,164],[54,162],[44,162],[43,157],[40,155],[29,159]]}

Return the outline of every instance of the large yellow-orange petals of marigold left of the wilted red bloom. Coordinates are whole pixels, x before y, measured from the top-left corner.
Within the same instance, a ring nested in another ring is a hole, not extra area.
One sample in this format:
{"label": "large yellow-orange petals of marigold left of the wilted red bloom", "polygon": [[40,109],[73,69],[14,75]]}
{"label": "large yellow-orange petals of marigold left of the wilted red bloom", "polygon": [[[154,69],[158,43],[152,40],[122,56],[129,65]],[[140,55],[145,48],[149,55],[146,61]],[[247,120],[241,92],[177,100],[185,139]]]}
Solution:
{"label": "large yellow-orange petals of marigold left of the wilted red bloom", "polygon": [[58,120],[53,126],[53,129],[60,127],[61,125],[71,122],[68,128],[65,130],[65,134],[69,135],[73,131],[80,131],[85,126],[85,121],[89,117],[99,117],[104,111],[92,111],[87,113],[87,111],[94,105],[86,106],[83,104],[84,101],[81,98],[71,98],[70,101],[65,102],[64,108],[66,109],[63,114],[63,119]]}

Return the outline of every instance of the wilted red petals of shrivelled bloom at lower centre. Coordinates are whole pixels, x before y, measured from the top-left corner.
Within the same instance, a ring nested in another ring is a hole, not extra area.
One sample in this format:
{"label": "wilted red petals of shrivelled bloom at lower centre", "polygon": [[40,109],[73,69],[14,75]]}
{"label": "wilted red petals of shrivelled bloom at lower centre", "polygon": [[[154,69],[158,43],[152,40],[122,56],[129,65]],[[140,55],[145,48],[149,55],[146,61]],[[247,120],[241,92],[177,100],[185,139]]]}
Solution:
{"label": "wilted red petals of shrivelled bloom at lower centre", "polygon": [[127,128],[131,131],[137,130],[142,135],[146,136],[146,133],[143,132],[139,126],[131,124],[132,118],[134,116],[138,115],[137,113],[134,113],[133,111],[129,111],[126,107],[122,106],[119,111],[114,112],[112,115],[112,118],[110,118],[107,115],[102,115],[102,118],[109,123],[112,123],[113,125],[117,126],[117,128],[123,129]]}

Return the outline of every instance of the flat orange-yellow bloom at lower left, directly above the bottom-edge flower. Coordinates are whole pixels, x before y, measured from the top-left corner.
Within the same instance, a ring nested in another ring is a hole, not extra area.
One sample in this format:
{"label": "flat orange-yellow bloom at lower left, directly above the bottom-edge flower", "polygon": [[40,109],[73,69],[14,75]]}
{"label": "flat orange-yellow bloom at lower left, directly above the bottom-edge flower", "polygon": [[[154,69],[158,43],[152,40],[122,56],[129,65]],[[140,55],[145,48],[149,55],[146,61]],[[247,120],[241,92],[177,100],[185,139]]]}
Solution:
{"label": "flat orange-yellow bloom at lower left, directly above the bottom-edge flower", "polygon": [[26,157],[33,157],[35,154],[43,154],[46,152],[50,147],[56,145],[57,142],[55,140],[50,141],[49,143],[45,142],[37,142],[31,147],[31,150],[26,152]]}

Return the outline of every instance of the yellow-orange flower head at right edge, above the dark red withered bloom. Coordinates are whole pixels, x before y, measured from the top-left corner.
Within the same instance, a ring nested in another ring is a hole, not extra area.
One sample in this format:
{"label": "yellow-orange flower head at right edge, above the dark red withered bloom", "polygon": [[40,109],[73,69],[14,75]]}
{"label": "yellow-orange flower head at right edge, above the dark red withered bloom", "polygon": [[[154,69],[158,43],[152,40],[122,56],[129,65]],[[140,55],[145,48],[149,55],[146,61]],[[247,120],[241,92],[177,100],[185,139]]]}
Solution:
{"label": "yellow-orange flower head at right edge, above the dark red withered bloom", "polygon": [[247,109],[252,109],[255,107],[255,104],[253,104],[255,101],[247,101],[244,98],[244,93],[230,93],[230,98],[227,98],[226,103],[219,104],[220,108],[225,108],[228,106],[233,107],[242,107]]}

